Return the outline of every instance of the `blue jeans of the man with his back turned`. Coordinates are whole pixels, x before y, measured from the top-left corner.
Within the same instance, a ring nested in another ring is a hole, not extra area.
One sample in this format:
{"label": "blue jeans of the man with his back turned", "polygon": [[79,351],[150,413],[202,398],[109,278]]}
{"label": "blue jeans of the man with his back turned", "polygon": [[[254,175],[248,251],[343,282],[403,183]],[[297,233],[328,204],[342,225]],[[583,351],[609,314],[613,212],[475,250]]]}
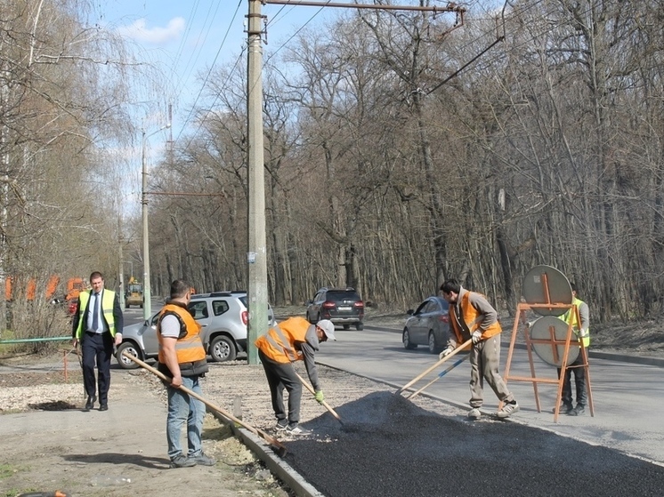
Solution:
{"label": "blue jeans of the man with his back turned", "polygon": [[[202,395],[198,376],[182,377],[182,387]],[[190,397],[181,389],[166,387],[168,393],[168,416],[166,417],[166,440],[168,442],[168,457],[173,460],[182,453],[180,438],[182,426],[187,423],[188,457],[197,456],[202,452],[203,445],[200,434],[203,431],[203,418],[206,415],[206,405],[198,398]]]}

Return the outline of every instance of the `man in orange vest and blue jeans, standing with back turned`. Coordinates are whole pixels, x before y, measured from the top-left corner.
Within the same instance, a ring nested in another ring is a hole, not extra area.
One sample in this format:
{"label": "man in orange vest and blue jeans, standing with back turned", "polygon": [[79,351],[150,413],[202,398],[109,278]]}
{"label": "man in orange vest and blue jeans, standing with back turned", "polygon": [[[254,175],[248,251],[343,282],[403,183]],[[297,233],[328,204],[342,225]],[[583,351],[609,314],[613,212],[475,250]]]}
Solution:
{"label": "man in orange vest and blue jeans, standing with back turned", "polygon": [[[206,350],[200,339],[201,326],[191,316],[190,285],[176,279],[171,284],[171,298],[159,312],[157,339],[159,341],[158,370],[171,381],[166,383],[168,415],[166,442],[171,468],[190,468],[201,464],[214,466],[215,459],[203,453],[201,433],[206,406],[198,398],[180,389],[185,387],[202,395],[199,379],[207,372]],[[187,425],[187,455],[182,453],[182,426]]]}

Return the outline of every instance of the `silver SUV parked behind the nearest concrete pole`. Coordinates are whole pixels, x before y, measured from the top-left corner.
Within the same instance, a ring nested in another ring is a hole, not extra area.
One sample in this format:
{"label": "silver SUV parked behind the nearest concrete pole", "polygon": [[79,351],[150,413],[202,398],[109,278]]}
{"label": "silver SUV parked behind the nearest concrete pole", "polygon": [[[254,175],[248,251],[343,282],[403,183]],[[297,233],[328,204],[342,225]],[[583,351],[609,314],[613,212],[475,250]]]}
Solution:
{"label": "silver SUV parked behind the nearest concrete pole", "polygon": [[[201,340],[208,356],[215,362],[232,361],[239,352],[247,350],[247,310],[246,292],[199,293],[191,296],[189,303],[191,316],[203,326]],[[157,319],[150,319],[135,325],[128,325],[122,331],[122,343],[117,347],[117,364],[123,369],[134,369],[136,363],[122,356],[124,350],[139,359],[156,359],[159,342],[157,339]],[[276,325],[274,311],[268,304],[268,325]]]}

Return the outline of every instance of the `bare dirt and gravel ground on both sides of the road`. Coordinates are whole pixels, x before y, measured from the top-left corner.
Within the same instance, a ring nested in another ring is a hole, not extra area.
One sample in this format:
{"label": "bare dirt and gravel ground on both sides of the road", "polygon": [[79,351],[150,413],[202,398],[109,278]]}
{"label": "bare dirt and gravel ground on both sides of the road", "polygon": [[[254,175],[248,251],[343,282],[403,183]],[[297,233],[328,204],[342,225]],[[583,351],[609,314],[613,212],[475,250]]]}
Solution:
{"label": "bare dirt and gravel ground on both sides of the road", "polygon": [[[278,317],[286,317],[297,314],[299,309],[276,309],[276,312]],[[405,321],[404,317],[402,314],[369,309],[365,322],[368,326],[399,329]],[[591,349],[661,357],[664,333],[659,323],[653,320],[640,325],[597,325],[591,328]],[[512,323],[508,319],[503,319],[503,327],[506,334],[511,333]],[[69,355],[68,376],[65,379],[61,371],[64,356],[63,351],[45,357],[6,353],[0,356],[0,422],[10,419],[6,415],[35,413],[39,420],[48,420],[39,416],[53,411],[80,411],[85,401],[77,358]],[[45,365],[45,370],[31,368],[37,365]],[[12,366],[20,366],[20,369],[12,369]],[[385,389],[381,384],[329,368],[321,368],[320,375],[326,385],[337,385],[337,391],[329,390],[326,394],[336,398],[340,405],[366,396],[369,391]],[[274,420],[262,368],[247,365],[244,360],[212,365],[203,391],[206,398],[231,413],[235,413],[234,409],[240,403],[243,421],[276,436],[272,431]],[[158,488],[167,488],[169,493],[187,492],[192,495],[292,495],[244,445],[231,437],[229,429],[209,414],[206,417],[204,449],[219,462],[213,468],[165,470],[168,461],[163,387],[150,373],[142,370],[114,371],[109,404],[119,404],[120,399],[126,403],[154,403],[156,409],[161,410],[155,416],[157,419],[143,420],[143,425],[146,421],[153,423],[150,432],[146,433],[140,429],[142,425],[137,424],[126,433],[115,434],[111,429],[101,430],[97,436],[79,432],[77,437],[72,437],[65,427],[39,426],[32,434],[35,437],[32,441],[25,435],[16,439],[5,438],[0,442],[0,497],[53,491],[53,485],[67,486],[70,495],[88,496],[162,494],[156,492]],[[303,419],[320,416],[320,409],[317,403],[303,400]],[[103,414],[84,415],[97,415],[99,418]],[[152,445],[146,445],[141,457],[126,453],[123,445],[131,445],[142,437],[149,438]],[[279,439],[284,440],[280,436]],[[91,445],[91,441],[96,445]],[[100,451],[101,459],[95,459],[94,453]]]}

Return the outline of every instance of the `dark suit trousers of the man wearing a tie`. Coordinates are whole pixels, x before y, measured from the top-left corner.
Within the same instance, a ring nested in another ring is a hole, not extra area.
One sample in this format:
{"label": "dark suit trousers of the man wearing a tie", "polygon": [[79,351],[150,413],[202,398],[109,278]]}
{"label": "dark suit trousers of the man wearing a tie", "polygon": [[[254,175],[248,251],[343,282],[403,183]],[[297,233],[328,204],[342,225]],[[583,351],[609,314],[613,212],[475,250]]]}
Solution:
{"label": "dark suit trousers of the man wearing a tie", "polygon": [[[88,397],[94,397],[99,386],[99,403],[108,404],[110,387],[110,357],[113,355],[113,337],[106,333],[84,333],[81,343],[83,354],[83,384]],[[94,365],[99,370],[99,383],[94,378]]]}

